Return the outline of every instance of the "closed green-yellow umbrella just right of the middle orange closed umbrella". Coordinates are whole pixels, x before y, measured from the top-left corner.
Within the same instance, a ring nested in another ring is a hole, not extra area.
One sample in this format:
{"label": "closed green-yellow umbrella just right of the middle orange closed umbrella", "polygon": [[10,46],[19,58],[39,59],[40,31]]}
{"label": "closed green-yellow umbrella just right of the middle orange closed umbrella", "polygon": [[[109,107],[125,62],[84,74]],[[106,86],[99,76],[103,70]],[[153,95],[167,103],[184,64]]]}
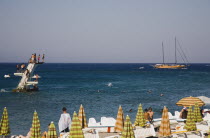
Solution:
{"label": "closed green-yellow umbrella just right of the middle orange closed umbrella", "polygon": [[132,123],[131,123],[130,117],[128,115],[126,116],[126,121],[124,124],[121,138],[135,138]]}

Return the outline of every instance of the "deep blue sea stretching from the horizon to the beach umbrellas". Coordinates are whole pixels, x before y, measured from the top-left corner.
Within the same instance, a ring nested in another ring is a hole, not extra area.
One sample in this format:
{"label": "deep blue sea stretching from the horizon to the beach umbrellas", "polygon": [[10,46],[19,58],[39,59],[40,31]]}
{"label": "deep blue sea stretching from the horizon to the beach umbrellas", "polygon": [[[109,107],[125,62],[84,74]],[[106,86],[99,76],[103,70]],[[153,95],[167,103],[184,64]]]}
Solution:
{"label": "deep blue sea stretching from the horizon to the beach umbrellas", "polygon": [[154,69],[151,64],[46,63],[35,72],[42,77],[39,79],[40,90],[29,93],[12,92],[20,77],[4,78],[4,75],[15,71],[15,63],[0,64],[0,115],[7,107],[14,135],[27,134],[34,110],[38,112],[43,132],[51,121],[58,129],[62,107],[66,107],[72,116],[83,104],[87,118],[94,117],[99,122],[102,116],[116,118],[121,105],[124,114],[134,122],[140,103],[144,109],[152,107],[155,118],[158,118],[163,106],[167,106],[172,114],[181,110],[176,102],[183,97],[210,97],[209,64],[168,70]]}

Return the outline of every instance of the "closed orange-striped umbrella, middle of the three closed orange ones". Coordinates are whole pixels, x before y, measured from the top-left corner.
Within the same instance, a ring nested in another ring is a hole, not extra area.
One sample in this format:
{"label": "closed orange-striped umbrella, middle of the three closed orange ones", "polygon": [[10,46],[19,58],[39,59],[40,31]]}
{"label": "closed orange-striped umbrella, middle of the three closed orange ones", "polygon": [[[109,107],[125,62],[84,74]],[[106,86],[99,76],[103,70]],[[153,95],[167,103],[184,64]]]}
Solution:
{"label": "closed orange-striped umbrella, middle of the three closed orange ones", "polygon": [[114,127],[115,132],[122,132],[124,127],[124,114],[121,105],[119,106],[117,119]]}

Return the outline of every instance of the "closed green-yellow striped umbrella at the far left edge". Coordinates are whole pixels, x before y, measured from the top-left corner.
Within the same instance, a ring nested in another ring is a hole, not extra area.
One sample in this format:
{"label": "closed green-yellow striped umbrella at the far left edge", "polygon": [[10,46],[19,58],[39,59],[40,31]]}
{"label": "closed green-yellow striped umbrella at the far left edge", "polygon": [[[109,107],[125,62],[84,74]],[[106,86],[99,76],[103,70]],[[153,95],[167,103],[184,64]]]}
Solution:
{"label": "closed green-yellow striped umbrella at the far left edge", "polygon": [[8,112],[7,108],[5,107],[0,122],[0,135],[7,136],[9,134],[10,134],[10,127],[9,127]]}

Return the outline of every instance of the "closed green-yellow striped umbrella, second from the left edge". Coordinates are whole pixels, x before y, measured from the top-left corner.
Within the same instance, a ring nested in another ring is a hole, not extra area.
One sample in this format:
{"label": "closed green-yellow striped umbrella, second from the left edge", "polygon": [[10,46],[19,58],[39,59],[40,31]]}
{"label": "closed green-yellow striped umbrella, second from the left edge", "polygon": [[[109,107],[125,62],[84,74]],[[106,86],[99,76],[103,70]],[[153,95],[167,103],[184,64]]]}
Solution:
{"label": "closed green-yellow striped umbrella, second from the left edge", "polygon": [[36,111],[34,111],[30,138],[41,138],[40,122]]}

